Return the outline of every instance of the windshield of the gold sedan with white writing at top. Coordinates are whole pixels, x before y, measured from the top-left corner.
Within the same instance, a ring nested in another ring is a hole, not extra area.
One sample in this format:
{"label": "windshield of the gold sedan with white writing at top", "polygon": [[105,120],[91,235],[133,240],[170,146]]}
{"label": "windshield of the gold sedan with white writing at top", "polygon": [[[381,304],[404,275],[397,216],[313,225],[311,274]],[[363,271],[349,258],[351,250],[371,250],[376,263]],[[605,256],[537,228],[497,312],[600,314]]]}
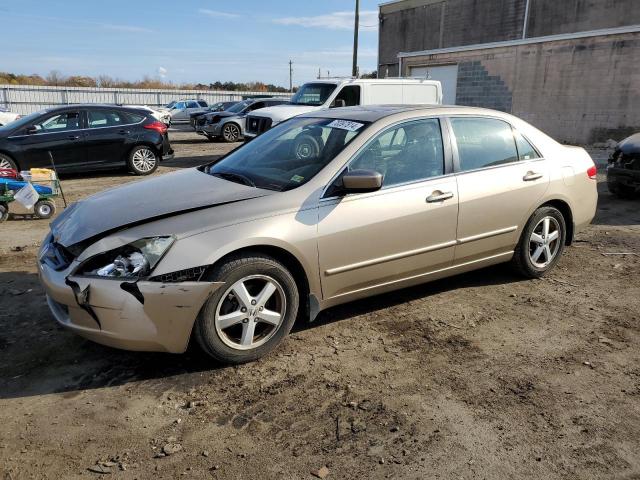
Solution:
{"label": "windshield of the gold sedan with white writing at top", "polygon": [[311,180],[367,125],[331,118],[293,118],[204,171],[251,187],[291,190]]}

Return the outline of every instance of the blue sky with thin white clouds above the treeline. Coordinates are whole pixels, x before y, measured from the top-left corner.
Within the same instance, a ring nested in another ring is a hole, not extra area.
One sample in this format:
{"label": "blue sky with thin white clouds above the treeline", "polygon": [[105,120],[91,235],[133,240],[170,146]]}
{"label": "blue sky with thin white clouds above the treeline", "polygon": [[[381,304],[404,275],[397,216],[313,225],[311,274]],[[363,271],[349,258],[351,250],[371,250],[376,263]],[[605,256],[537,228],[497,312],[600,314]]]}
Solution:
{"label": "blue sky with thin white clouds above the treeline", "polygon": [[[379,0],[360,1],[361,72]],[[351,74],[355,0],[0,0],[0,71],[294,85]]]}

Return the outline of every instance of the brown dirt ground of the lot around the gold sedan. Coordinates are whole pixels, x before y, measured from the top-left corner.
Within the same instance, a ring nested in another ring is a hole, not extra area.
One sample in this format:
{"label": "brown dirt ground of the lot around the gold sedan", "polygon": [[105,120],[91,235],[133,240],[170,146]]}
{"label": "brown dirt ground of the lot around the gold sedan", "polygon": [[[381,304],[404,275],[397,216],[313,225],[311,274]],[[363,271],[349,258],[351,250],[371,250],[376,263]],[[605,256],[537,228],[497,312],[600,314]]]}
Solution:
{"label": "brown dirt ground of the lot around the gold sedan", "polygon": [[[172,139],[158,175],[230,148]],[[64,187],[75,200],[135,180]],[[36,276],[47,222],[10,220],[0,478],[640,478],[640,201],[602,181],[549,277],[500,266],[344,305],[239,367],[64,331]]]}

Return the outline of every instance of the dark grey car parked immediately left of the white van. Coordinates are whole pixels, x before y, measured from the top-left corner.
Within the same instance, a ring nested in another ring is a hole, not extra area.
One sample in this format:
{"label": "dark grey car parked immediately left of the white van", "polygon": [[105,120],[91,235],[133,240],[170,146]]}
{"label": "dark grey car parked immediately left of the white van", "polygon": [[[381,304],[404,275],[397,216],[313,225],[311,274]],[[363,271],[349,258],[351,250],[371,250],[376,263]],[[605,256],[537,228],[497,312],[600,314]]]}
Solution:
{"label": "dark grey car parked immediately left of the white van", "polygon": [[288,103],[282,98],[249,99],[238,102],[224,112],[213,112],[205,115],[203,125],[198,125],[196,132],[206,136],[210,141],[222,139],[227,143],[237,142],[244,137],[246,117],[249,113],[266,107],[275,107]]}

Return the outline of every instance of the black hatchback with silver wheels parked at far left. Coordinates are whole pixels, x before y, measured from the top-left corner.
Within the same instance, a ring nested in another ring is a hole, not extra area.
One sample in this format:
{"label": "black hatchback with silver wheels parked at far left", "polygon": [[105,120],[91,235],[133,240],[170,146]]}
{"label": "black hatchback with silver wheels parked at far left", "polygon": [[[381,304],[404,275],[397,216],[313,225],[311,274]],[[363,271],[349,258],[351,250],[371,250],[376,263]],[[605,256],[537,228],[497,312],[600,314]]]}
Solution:
{"label": "black hatchback with silver wheels parked at far left", "polygon": [[0,168],[60,172],[127,166],[149,175],[173,156],[167,126],[151,112],[116,105],[67,105],[0,127]]}

